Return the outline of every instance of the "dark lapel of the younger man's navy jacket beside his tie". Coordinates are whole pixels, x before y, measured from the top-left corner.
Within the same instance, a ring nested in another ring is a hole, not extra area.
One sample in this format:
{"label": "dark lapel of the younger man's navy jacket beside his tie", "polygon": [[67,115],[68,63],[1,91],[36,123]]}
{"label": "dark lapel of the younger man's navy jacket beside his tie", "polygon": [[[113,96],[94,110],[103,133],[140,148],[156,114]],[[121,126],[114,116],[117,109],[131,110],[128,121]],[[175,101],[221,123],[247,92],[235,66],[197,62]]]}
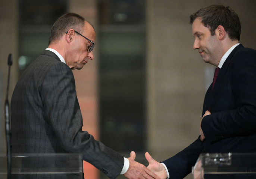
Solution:
{"label": "dark lapel of the younger man's navy jacket beside his tie", "polygon": [[[207,110],[209,109],[211,113],[212,113],[213,99],[214,99],[217,91],[219,92],[221,90],[221,89],[218,89],[219,85],[221,84],[221,81],[224,78],[224,75],[225,75],[225,73],[226,73],[226,71],[228,69],[228,66],[230,65],[230,61],[231,61],[232,57],[234,56],[235,52],[238,49],[240,49],[240,48],[244,48],[243,45],[239,44],[239,45],[237,45],[237,47],[234,48],[234,50],[230,53],[230,55],[227,57],[227,59],[225,60],[224,64],[222,65],[221,70],[219,70],[219,74],[218,74],[218,77],[217,77],[217,79],[215,81],[213,90],[209,94],[209,96],[207,97],[208,98],[208,102],[206,103],[207,104],[206,107],[207,107]],[[212,88],[212,85],[210,85],[209,88]]]}

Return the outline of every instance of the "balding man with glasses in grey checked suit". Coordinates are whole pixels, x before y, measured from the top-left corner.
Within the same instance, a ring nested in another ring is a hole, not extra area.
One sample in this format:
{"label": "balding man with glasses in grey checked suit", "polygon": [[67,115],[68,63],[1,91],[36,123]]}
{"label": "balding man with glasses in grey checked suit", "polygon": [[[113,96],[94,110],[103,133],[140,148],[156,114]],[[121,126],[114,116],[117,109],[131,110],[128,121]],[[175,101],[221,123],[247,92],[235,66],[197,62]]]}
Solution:
{"label": "balding man with glasses in grey checked suit", "polygon": [[[110,179],[159,179],[82,131],[82,115],[71,69],[93,60],[96,35],[84,18],[67,13],[51,28],[49,47],[22,73],[11,101],[13,153],[81,153]],[[85,124],[86,125],[86,124]],[[20,175],[21,178],[78,178],[77,175]]]}

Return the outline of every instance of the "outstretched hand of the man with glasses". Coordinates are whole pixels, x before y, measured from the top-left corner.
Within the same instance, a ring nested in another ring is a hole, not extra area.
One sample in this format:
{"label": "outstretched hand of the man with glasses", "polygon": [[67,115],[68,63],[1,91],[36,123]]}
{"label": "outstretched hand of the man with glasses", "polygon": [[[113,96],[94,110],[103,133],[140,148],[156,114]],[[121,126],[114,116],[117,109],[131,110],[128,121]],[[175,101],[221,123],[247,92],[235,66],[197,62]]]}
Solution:
{"label": "outstretched hand of the man with glasses", "polygon": [[136,154],[131,152],[129,160],[129,168],[124,176],[128,179],[160,179],[154,172],[147,169],[143,164],[134,161]]}

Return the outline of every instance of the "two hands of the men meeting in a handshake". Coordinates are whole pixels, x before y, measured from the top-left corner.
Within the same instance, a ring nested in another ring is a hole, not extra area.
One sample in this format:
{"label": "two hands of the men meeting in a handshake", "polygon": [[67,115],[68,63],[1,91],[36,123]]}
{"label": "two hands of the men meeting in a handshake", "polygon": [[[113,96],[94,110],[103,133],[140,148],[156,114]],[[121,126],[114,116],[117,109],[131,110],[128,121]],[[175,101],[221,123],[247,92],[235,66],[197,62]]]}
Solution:
{"label": "two hands of the men meeting in a handshake", "polygon": [[165,167],[154,160],[149,153],[145,153],[145,157],[149,162],[149,166],[145,167],[143,164],[134,161],[136,154],[131,152],[129,160],[129,168],[124,176],[128,179],[167,179],[167,172]]}

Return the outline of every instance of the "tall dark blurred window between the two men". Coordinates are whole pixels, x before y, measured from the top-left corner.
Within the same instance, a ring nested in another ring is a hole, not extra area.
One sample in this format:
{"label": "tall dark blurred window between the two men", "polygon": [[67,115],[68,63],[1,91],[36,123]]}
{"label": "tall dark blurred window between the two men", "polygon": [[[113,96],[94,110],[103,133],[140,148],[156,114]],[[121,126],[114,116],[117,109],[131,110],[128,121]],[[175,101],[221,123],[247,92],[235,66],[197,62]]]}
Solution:
{"label": "tall dark blurred window between the two men", "polygon": [[127,155],[144,152],[145,1],[99,0],[99,23],[100,140]]}

